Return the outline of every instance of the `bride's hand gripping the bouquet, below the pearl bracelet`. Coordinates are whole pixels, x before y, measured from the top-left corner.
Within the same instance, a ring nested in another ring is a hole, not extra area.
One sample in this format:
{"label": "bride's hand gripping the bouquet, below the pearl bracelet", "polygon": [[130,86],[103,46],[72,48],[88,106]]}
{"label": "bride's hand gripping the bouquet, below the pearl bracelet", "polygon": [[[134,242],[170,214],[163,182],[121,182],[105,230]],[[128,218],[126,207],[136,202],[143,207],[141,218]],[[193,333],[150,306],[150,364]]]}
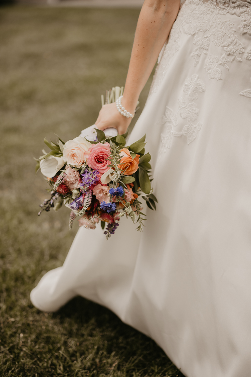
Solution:
{"label": "bride's hand gripping the bouquet, below the pearl bracelet", "polygon": [[105,130],[106,128],[116,128],[120,135],[126,133],[132,118],[126,118],[121,115],[116,107],[116,103],[110,103],[102,106],[99,116],[95,122],[99,130]]}

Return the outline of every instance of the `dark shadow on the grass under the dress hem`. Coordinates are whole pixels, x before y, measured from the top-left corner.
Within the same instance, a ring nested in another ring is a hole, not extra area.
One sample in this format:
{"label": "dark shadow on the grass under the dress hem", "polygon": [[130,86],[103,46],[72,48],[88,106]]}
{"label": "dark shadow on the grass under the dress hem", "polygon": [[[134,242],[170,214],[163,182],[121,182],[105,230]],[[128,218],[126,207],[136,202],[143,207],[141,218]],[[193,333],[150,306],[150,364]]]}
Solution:
{"label": "dark shadow on the grass under the dress hem", "polygon": [[[99,304],[78,296],[53,317],[61,323],[73,321],[79,334],[84,330],[87,337],[98,340],[98,355],[104,353],[106,357],[115,358],[115,375],[184,377],[152,339]],[[102,374],[99,366],[100,362],[97,363],[97,375]]]}

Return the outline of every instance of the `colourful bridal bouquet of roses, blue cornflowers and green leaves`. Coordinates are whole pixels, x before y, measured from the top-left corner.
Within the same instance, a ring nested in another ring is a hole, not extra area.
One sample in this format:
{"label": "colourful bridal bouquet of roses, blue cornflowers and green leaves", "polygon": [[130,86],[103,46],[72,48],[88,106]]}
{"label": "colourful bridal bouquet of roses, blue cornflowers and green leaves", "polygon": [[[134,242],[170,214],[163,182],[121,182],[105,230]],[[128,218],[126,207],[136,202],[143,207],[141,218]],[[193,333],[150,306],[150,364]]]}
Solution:
{"label": "colourful bridal bouquet of roses, blue cornflowers and green leaves", "polygon": [[[91,127],[89,127],[91,128]],[[84,130],[85,131],[85,130]],[[87,132],[88,134],[88,132]],[[142,231],[146,220],[139,198],[156,209],[149,178],[151,156],[145,153],[145,136],[126,145],[126,136],[109,136],[92,129],[89,139],[78,136],[66,143],[44,143],[51,149],[37,159],[36,171],[47,177],[50,199],[44,200],[41,210],[58,210],[62,204],[70,208],[69,227],[78,219],[79,226],[95,229],[100,222],[108,239],[119,226],[120,217],[129,216]]]}

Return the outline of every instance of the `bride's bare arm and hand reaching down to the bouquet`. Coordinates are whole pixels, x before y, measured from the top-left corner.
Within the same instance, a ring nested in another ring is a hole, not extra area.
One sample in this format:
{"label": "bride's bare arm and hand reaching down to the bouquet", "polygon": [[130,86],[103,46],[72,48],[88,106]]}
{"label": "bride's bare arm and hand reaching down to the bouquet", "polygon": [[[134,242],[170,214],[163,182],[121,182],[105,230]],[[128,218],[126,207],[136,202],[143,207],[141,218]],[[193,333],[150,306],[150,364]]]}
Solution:
{"label": "bride's bare arm and hand reaching down to the bouquet", "polygon": [[[134,113],[140,92],[152,72],[179,8],[180,0],[145,0],[141,8],[122,98],[122,105],[131,113]],[[102,107],[95,124],[102,130],[117,128],[122,134],[130,123],[131,118],[121,115],[116,104],[112,103]]]}

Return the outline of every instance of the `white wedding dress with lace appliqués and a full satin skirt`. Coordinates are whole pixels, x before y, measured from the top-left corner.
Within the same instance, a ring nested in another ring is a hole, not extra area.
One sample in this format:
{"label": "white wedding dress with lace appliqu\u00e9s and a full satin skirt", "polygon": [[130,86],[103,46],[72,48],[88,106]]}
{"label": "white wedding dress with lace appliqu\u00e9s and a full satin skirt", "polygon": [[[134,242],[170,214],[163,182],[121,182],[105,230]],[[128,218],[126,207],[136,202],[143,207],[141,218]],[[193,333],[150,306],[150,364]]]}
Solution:
{"label": "white wedding dress with lace appliqu\u00e9s and a full satin skirt", "polygon": [[251,376],[251,2],[186,0],[128,145],[146,133],[157,211],[108,240],[80,228],[32,303],[81,295],[187,377]]}

